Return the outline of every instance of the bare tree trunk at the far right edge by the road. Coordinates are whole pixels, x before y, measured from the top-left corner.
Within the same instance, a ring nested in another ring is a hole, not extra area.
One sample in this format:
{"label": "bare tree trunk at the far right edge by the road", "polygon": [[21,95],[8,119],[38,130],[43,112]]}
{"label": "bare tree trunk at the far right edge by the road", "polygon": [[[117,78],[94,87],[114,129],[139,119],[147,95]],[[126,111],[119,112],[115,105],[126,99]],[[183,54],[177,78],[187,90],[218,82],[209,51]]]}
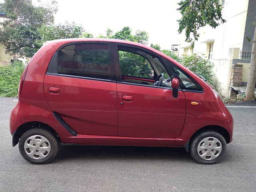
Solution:
{"label": "bare tree trunk at the far right edge by the road", "polygon": [[256,26],[254,30],[254,38],[252,41],[250,75],[248,77],[244,100],[253,100],[255,84],[256,84]]}

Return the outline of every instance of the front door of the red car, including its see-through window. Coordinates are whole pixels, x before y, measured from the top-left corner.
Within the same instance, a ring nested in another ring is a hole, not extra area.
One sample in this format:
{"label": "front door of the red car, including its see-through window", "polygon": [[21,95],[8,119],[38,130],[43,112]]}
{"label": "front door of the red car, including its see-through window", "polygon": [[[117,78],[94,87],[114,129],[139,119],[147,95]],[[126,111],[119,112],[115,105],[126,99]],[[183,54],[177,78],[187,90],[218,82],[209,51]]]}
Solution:
{"label": "front door of the red car, including its see-through window", "polygon": [[[130,47],[116,46],[116,49],[118,136],[178,138],[186,113],[184,93],[179,90],[178,98],[174,98],[172,88],[126,81],[127,76],[144,78],[145,82],[154,78],[154,74],[150,74],[154,71],[149,62],[152,55],[137,48],[133,48],[135,55],[129,52]],[[127,57],[136,60],[130,62],[130,68],[129,63],[124,62],[129,61]]]}

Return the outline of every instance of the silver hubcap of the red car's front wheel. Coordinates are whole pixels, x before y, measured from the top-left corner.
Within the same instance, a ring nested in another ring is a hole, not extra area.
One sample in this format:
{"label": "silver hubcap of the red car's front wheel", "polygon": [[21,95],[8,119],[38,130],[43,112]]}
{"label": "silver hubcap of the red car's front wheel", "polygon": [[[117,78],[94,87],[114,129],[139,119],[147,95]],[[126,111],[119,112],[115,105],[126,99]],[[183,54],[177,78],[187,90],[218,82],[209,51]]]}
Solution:
{"label": "silver hubcap of the red car's front wheel", "polygon": [[197,153],[203,160],[214,160],[222,151],[222,144],[220,140],[215,137],[206,137],[199,142],[197,146]]}

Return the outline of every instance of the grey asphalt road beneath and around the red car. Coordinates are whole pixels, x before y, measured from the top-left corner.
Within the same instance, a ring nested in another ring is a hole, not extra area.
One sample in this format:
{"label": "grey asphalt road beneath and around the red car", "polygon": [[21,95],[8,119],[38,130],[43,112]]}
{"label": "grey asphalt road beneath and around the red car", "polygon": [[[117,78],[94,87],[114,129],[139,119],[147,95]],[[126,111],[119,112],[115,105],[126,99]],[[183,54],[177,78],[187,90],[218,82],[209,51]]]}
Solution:
{"label": "grey asphalt road beneath and around the red car", "polygon": [[33,165],[11,145],[14,100],[0,98],[0,192],[256,191],[256,108],[229,108],[234,140],[218,164],[183,148],[62,146],[54,162]]}

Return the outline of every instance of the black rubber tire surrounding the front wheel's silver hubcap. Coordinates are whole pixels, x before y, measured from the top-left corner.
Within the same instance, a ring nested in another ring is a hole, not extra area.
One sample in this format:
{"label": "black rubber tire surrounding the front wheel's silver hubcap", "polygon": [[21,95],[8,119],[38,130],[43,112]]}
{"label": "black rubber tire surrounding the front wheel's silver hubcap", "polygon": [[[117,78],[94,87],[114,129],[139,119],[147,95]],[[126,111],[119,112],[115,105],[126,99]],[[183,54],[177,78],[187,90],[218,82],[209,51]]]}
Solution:
{"label": "black rubber tire surrounding the front wheel's silver hubcap", "polygon": [[[197,152],[197,148],[198,148],[198,144],[204,139],[204,138],[207,138],[207,137],[215,137],[217,138],[221,144],[222,144],[222,151],[220,152],[219,156],[216,158],[216,159],[213,159],[213,160],[204,160],[202,159],[199,155],[198,155],[198,152]],[[215,132],[215,131],[205,131],[205,132],[202,132],[200,134],[198,134],[197,136],[195,136],[191,141],[190,141],[190,144],[189,144],[189,152],[190,152],[190,155],[192,156],[192,158],[194,160],[196,160],[196,162],[200,163],[200,164],[215,164],[217,163],[223,156],[223,154],[225,153],[226,151],[226,140],[224,139],[224,137],[218,133],[218,132]]]}

